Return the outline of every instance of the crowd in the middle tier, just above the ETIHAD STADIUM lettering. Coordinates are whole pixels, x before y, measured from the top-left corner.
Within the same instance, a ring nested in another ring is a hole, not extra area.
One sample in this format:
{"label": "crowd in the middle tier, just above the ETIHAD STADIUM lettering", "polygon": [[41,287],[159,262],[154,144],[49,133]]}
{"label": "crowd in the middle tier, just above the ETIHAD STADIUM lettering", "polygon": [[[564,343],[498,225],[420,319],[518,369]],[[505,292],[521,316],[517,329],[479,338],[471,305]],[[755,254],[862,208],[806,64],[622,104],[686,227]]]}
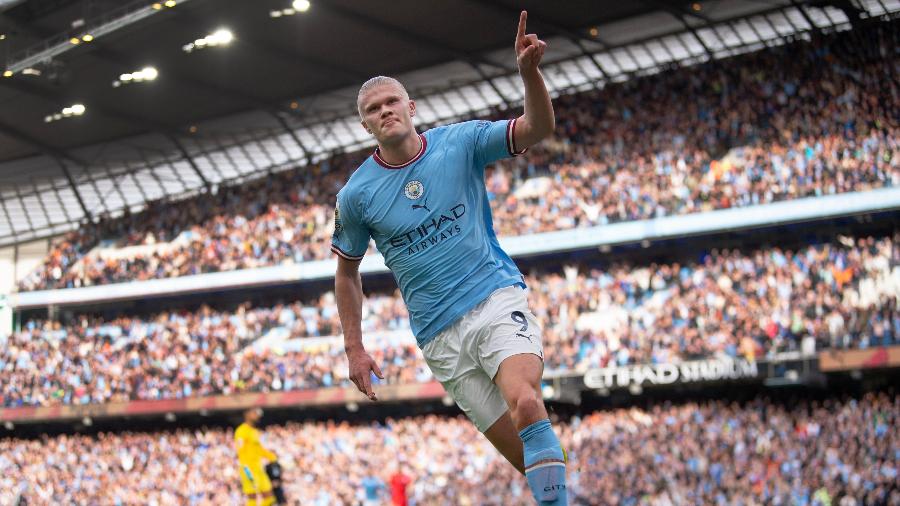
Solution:
{"label": "crowd in the middle tier, just above the ETIHAD STADIUM lettering", "polygon": [[[900,242],[841,237],[797,251],[713,250],[702,261],[569,266],[526,276],[548,372],[900,342]],[[398,292],[367,297],[384,382],[431,380]],[[276,332],[277,331],[277,332]],[[0,406],[85,404],[347,386],[334,295],[141,319],[30,321],[0,343]],[[266,346],[251,345],[268,341]],[[260,340],[260,338],[265,338]]]}

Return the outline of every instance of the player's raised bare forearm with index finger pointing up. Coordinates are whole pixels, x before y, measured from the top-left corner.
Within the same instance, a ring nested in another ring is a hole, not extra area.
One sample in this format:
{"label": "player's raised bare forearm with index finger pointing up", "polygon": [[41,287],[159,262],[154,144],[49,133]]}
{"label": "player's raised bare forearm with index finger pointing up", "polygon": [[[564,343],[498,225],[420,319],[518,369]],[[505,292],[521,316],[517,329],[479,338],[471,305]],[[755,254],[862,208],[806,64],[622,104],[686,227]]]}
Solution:
{"label": "player's raised bare forearm with index finger pointing up", "polygon": [[522,11],[516,33],[516,63],[525,86],[525,114],[516,120],[513,132],[515,147],[520,152],[552,134],[556,127],[553,103],[544,84],[544,76],[538,68],[547,43],[533,33],[525,33],[527,19],[528,13]]}

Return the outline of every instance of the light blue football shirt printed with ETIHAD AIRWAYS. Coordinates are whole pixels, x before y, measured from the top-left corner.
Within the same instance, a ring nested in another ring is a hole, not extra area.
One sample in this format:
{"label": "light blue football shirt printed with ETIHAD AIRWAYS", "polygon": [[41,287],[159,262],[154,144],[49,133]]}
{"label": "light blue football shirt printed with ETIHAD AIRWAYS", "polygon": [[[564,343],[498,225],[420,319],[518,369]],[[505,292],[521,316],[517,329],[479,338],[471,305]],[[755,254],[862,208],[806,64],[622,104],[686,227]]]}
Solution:
{"label": "light blue football shirt printed with ETIHAD AIRWAYS", "polygon": [[433,128],[401,165],[386,163],[376,149],[338,192],[332,251],[359,260],[375,240],[419,347],[494,290],[524,287],[494,234],[484,184],[485,165],[518,154],[515,122]]}

